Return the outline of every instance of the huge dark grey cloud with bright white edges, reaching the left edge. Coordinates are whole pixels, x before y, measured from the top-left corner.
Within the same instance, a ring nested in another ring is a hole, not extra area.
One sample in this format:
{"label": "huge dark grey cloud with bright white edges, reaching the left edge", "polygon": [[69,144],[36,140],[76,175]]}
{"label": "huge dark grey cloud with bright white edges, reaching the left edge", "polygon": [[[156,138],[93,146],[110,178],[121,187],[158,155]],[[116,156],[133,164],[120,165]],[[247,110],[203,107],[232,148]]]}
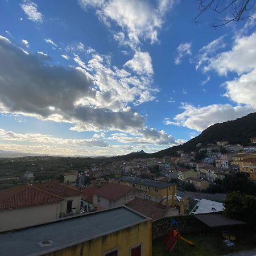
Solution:
{"label": "huge dark grey cloud with bright white edges, reaching the left edge", "polygon": [[111,69],[108,58],[104,63],[97,54],[88,61],[91,73],[48,65],[42,54],[27,55],[3,37],[0,55],[0,112],[67,122],[76,131],[119,130],[158,144],[172,142],[164,131],[146,128],[144,117],[127,107],[147,95],[148,76]]}

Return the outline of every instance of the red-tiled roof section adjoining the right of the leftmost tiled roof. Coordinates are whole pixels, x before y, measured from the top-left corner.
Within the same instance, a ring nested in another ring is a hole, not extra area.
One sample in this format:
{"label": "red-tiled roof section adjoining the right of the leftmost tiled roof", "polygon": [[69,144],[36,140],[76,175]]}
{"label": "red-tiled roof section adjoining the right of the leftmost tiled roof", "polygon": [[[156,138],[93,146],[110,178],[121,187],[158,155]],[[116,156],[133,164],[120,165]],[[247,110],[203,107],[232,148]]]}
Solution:
{"label": "red-tiled roof section adjoining the right of the leftmost tiled roof", "polygon": [[66,185],[52,182],[52,181],[34,184],[34,186],[40,189],[43,189],[44,191],[48,191],[50,193],[53,193],[55,195],[62,196],[62,197],[81,195],[81,191],[79,191],[78,189],[68,187]]}

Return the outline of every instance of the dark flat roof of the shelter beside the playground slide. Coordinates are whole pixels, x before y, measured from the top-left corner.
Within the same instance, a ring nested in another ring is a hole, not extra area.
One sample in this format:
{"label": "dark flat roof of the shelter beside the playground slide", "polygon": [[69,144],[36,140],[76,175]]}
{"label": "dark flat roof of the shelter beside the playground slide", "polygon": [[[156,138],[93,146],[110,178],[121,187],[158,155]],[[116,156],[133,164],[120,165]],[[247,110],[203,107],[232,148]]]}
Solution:
{"label": "dark flat roof of the shelter beside the playground slide", "polygon": [[202,214],[195,215],[195,217],[201,222],[204,222],[204,224],[206,224],[210,228],[214,228],[217,226],[232,226],[245,224],[245,222],[243,221],[227,218],[223,214]]}

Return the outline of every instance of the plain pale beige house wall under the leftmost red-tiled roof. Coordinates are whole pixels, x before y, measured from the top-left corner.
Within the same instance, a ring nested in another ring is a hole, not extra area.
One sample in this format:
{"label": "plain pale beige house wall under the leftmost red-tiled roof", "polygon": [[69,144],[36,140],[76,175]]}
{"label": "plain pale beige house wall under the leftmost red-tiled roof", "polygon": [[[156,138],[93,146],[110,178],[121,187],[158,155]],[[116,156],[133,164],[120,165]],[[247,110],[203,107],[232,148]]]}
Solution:
{"label": "plain pale beige house wall under the leftmost red-tiled roof", "polygon": [[60,202],[0,210],[0,232],[57,220],[59,214]]}

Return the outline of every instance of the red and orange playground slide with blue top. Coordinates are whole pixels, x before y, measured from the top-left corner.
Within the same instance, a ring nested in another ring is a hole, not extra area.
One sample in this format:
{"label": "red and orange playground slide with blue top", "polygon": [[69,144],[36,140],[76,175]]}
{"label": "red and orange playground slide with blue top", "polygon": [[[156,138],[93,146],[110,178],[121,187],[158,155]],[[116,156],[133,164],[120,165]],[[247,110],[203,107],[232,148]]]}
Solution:
{"label": "red and orange playground slide with blue top", "polygon": [[164,241],[164,249],[166,249],[169,253],[171,253],[172,249],[174,249],[179,238],[184,242],[188,243],[189,245],[195,246],[195,243],[180,236],[180,233],[178,232],[178,225],[176,220],[171,220],[171,225],[172,225],[171,231],[168,234],[166,241]]}

